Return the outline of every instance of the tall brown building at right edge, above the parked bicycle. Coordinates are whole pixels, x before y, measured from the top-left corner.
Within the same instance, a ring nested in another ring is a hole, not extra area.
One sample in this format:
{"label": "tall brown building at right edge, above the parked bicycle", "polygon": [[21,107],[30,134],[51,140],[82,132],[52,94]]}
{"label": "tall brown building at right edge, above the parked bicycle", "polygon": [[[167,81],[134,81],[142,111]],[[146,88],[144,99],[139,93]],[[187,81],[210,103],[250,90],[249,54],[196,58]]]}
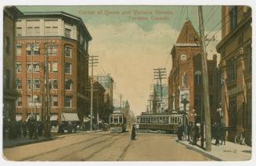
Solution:
{"label": "tall brown building at right edge, above the parked bicycle", "polygon": [[222,6],[222,113],[228,126],[228,139],[234,141],[243,131],[251,145],[252,29],[249,6]]}

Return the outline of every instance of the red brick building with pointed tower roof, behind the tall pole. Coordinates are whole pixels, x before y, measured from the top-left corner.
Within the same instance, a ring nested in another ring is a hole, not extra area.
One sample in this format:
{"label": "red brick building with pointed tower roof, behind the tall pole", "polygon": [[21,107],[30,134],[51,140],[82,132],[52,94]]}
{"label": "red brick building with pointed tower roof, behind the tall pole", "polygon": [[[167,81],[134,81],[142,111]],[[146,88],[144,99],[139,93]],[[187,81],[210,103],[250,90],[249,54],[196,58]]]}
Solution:
{"label": "red brick building with pointed tower roof, behind the tall pole", "polygon": [[[171,58],[172,68],[168,77],[168,110],[183,111],[184,105],[181,101],[186,98],[189,101],[189,104],[186,104],[188,121],[200,122],[201,111],[203,110],[202,101],[204,100],[202,96],[200,37],[189,20],[186,20],[182,26],[178,39],[171,49]],[[215,122],[216,109],[218,108],[216,65],[216,55],[213,56],[213,60],[207,60],[212,122]]]}

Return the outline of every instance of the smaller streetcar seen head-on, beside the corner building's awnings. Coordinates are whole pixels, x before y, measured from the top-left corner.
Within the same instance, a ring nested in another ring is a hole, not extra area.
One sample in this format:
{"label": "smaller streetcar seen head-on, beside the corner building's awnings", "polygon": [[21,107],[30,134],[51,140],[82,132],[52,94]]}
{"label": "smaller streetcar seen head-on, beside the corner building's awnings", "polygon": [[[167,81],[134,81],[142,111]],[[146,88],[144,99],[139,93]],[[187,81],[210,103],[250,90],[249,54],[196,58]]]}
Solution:
{"label": "smaller streetcar seen head-on, beside the corner building's awnings", "polygon": [[110,132],[125,132],[126,118],[121,112],[110,115]]}

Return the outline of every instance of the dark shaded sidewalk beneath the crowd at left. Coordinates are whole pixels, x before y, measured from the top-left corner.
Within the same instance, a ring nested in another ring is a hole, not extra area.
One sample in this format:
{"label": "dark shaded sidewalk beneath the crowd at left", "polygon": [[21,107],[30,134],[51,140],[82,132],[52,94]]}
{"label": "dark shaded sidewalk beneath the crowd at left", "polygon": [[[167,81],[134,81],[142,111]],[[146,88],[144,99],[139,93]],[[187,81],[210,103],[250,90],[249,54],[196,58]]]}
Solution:
{"label": "dark shaded sidewalk beneath the crowd at left", "polygon": [[52,140],[52,138],[38,138],[37,140],[30,139],[30,138],[17,138],[13,140],[3,140],[2,141],[2,147],[3,148],[8,148],[8,147],[18,147],[18,146],[23,146],[31,143],[41,143],[44,141]]}

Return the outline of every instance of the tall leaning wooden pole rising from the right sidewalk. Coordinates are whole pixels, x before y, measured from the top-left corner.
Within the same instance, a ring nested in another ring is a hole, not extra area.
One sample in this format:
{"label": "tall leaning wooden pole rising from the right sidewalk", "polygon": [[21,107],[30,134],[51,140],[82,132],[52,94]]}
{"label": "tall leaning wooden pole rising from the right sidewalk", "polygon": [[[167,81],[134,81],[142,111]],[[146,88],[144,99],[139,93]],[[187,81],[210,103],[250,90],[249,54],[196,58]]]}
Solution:
{"label": "tall leaning wooden pole rising from the right sidewalk", "polygon": [[[201,61],[202,61],[202,76],[203,76],[203,97],[204,97],[204,121],[205,121],[205,140],[206,151],[211,151],[211,115],[209,104],[209,89],[208,89],[208,76],[207,76],[207,55],[204,38],[204,19],[202,6],[198,6],[199,16],[199,29],[201,38]],[[201,124],[203,125],[203,124]]]}

